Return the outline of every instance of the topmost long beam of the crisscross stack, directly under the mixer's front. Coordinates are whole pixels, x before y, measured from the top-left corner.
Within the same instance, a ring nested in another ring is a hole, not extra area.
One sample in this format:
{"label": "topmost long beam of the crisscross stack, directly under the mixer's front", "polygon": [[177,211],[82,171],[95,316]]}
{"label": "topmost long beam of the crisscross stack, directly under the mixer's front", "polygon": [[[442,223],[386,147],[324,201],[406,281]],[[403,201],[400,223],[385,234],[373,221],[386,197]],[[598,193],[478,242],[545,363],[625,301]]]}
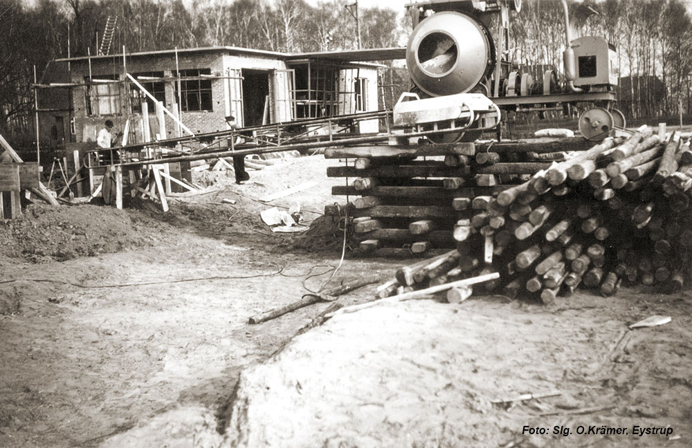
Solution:
{"label": "topmost long beam of the crisscross stack, directly under the mixer's front", "polygon": [[327,148],[325,158],[379,158],[379,157],[411,157],[411,156],[446,156],[448,154],[459,154],[462,156],[473,156],[475,154],[475,144],[453,143],[453,144],[423,144],[420,146],[393,145],[393,146],[363,146],[346,148]]}

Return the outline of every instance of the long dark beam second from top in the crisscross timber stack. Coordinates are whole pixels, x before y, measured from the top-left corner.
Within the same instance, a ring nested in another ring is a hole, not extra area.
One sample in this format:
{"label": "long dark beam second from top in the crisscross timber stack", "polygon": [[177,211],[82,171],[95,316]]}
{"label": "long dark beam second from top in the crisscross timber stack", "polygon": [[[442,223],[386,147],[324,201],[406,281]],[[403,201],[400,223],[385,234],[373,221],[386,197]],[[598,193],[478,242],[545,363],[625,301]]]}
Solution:
{"label": "long dark beam second from top in the crisscross timber stack", "polygon": [[425,164],[408,165],[384,165],[370,167],[368,169],[356,169],[356,167],[327,167],[327,177],[464,177],[468,175],[468,167],[448,167],[443,162],[435,165],[430,162]]}

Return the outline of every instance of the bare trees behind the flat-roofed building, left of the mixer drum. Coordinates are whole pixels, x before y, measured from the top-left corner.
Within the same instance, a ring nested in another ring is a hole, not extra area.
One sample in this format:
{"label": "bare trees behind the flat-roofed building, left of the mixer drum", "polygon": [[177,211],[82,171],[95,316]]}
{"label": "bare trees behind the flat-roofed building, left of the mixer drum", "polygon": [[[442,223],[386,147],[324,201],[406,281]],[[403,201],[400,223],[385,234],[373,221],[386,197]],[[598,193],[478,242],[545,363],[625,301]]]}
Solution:
{"label": "bare trees behind the flat-roofed building, left of the mixer drum", "polygon": [[[116,16],[111,53],[206,46],[282,52],[353,49],[356,21],[346,1],[322,0],[0,0],[0,133],[31,126],[33,66],[44,78],[61,57],[97,54],[106,21]],[[361,8],[361,46],[401,44],[397,12]]]}

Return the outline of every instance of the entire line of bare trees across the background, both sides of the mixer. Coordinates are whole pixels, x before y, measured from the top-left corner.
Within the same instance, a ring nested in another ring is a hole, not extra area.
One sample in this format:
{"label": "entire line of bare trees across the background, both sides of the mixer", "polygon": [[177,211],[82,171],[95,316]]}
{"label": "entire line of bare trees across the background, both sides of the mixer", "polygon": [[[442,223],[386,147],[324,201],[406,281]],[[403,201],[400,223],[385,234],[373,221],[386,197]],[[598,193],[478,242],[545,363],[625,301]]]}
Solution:
{"label": "entire line of bare trees across the background, both sides of the mixer", "polygon": [[[0,0],[0,133],[30,125],[33,66],[42,80],[55,58],[95,54],[107,18],[117,16],[111,53],[239,46],[311,52],[356,48],[349,0]],[[402,1],[402,8],[403,8]],[[186,6],[187,4],[187,6]],[[570,1],[570,10],[577,3]],[[628,118],[692,111],[692,21],[682,0],[605,0],[584,34],[619,51],[620,109]],[[564,17],[556,0],[526,0],[513,15],[517,62],[561,71]],[[397,11],[361,8],[363,48],[398,46],[410,32]]]}

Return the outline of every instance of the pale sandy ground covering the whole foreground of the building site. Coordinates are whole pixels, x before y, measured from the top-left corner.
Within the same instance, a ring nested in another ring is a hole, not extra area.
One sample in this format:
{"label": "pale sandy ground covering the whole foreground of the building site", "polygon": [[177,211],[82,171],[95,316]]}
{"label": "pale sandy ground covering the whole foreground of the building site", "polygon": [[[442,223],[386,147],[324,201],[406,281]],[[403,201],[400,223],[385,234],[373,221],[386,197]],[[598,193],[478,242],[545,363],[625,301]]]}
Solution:
{"label": "pale sandy ground covering the whole foreground of the building site", "polygon": [[[272,203],[297,200],[309,222],[334,201],[331,163],[286,160],[241,186],[208,174],[221,189],[167,215],[30,207],[3,223],[0,446],[692,447],[687,291],[579,293],[549,307],[411,301],[340,315],[293,340],[325,304],[248,325],[338,264],[328,220],[304,236],[273,234],[256,200],[318,180]],[[337,279],[400,263],[347,256]],[[673,320],[627,330],[655,314]],[[522,434],[525,425],[549,434]],[[572,434],[553,435],[556,425]],[[580,425],[629,435],[579,436]],[[673,433],[632,436],[635,425]]]}

